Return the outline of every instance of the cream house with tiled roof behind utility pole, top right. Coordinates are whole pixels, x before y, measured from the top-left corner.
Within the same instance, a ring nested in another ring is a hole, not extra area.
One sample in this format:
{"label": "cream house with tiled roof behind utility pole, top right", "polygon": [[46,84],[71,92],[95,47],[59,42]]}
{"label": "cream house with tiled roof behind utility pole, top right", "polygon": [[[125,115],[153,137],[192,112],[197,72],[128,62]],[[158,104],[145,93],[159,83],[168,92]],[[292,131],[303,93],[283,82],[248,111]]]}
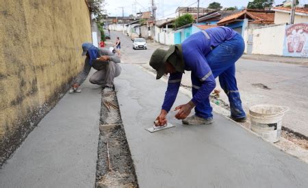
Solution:
{"label": "cream house with tiled roof behind utility pole, top right", "polygon": [[[275,12],[274,23],[290,23],[291,8],[288,7],[274,7],[272,10]],[[308,8],[296,8],[294,23],[307,23],[308,22]]]}

